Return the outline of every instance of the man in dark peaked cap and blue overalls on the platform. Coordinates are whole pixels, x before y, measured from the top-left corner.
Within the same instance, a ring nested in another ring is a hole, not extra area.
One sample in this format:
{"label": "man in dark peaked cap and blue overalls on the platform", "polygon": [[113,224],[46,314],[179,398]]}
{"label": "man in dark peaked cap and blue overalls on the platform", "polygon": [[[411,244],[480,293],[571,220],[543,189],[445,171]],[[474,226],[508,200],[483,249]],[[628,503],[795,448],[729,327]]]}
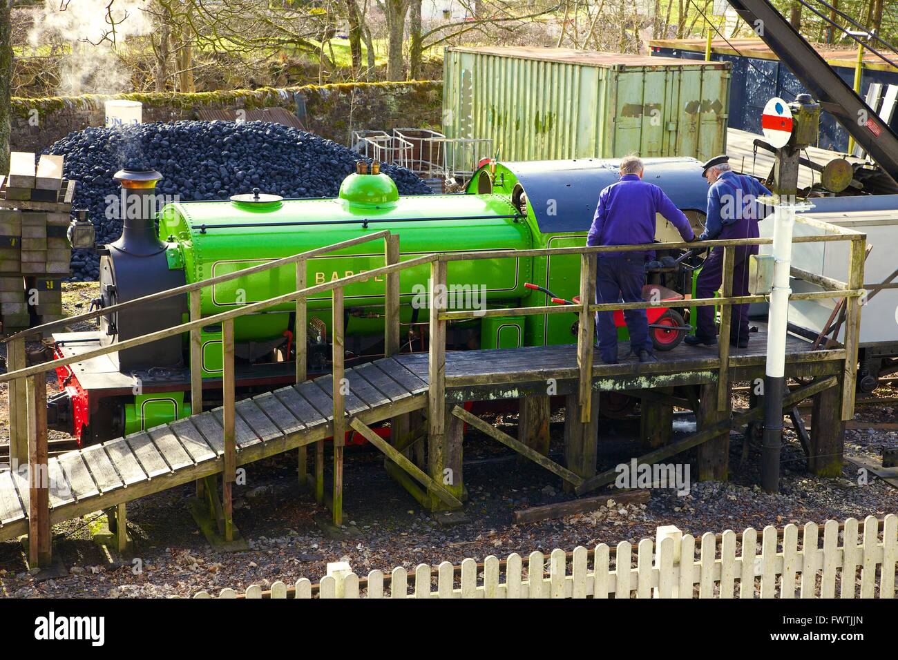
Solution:
{"label": "man in dark peaked cap and blue overalls on the platform", "polygon": [[[729,156],[712,158],[703,166],[703,176],[708,179],[708,216],[705,231],[700,241],[726,240],[734,238],[757,238],[758,221],[766,216],[766,211],[757,198],[770,195],[758,180],[736,174],[729,164]],[[733,264],[733,295],[748,295],[749,255],[757,254],[758,246],[735,248]],[[709,298],[720,288],[723,280],[723,248],[714,248],[701,267],[695,286],[695,295]],[[697,307],[695,335],[685,339],[690,346],[716,344],[717,329],[714,323],[714,307]],[[733,306],[730,325],[730,346],[748,347],[748,305]]]}

